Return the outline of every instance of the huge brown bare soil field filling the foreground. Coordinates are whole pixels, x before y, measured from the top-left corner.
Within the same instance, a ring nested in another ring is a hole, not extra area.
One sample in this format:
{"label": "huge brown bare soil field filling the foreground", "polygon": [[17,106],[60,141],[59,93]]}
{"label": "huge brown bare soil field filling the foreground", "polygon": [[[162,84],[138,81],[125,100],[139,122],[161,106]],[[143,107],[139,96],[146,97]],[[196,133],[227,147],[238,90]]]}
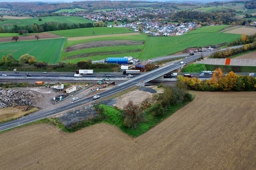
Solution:
{"label": "huge brown bare soil field filling the foreground", "polygon": [[35,124],[0,134],[2,169],[255,169],[256,92],[198,92],[138,138],[96,124]]}

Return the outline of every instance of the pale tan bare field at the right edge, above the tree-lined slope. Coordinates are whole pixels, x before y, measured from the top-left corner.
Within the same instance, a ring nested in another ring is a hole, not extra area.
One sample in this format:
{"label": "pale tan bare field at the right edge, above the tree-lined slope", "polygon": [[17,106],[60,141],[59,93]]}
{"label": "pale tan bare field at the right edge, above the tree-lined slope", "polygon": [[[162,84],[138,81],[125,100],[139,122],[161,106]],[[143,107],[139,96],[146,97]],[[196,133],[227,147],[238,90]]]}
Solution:
{"label": "pale tan bare field at the right edge, above the tree-lined slope", "polygon": [[244,35],[254,35],[256,33],[255,27],[246,27],[246,26],[234,26],[234,27],[228,27],[220,32],[225,33],[235,33],[235,34],[244,34]]}

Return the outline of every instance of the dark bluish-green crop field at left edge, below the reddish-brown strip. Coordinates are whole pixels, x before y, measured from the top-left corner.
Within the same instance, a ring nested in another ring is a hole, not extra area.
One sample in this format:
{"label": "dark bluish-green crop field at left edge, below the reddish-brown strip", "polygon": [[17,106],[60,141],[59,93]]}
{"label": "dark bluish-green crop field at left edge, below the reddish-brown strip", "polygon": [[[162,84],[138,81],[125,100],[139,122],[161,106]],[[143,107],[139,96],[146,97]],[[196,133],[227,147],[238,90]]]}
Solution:
{"label": "dark bluish-green crop field at left edge, below the reddish-brown strip", "polygon": [[37,62],[55,64],[60,60],[65,41],[66,38],[54,38],[1,43],[0,54],[12,54],[15,60],[19,60],[23,54],[29,54],[33,55]]}

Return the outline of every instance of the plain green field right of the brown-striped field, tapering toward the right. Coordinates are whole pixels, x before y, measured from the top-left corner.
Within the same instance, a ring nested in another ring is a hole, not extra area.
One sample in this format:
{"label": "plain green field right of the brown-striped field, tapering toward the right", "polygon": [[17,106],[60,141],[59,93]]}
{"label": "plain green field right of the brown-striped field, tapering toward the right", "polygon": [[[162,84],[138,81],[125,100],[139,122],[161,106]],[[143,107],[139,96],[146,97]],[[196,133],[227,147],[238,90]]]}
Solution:
{"label": "plain green field right of the brown-striped field, tapering toward the right", "polygon": [[[213,38],[214,37],[214,38]],[[228,33],[189,33],[174,37],[148,37],[142,49],[140,58],[142,60],[157,56],[171,55],[189,47],[204,47],[230,43],[239,38],[240,35]]]}

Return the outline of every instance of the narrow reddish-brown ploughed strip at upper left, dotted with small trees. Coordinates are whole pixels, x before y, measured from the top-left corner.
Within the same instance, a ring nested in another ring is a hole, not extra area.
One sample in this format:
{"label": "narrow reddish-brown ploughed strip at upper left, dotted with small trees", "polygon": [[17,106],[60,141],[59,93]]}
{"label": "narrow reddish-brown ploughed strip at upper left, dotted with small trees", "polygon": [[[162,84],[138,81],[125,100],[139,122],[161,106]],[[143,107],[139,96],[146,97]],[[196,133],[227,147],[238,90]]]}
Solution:
{"label": "narrow reddish-brown ploughed strip at upper left, dotted with small trees", "polygon": [[[60,38],[61,36],[55,35],[53,33],[50,32],[43,32],[43,33],[37,33],[34,35],[22,35],[22,36],[18,36],[19,40],[18,41],[25,41],[25,40],[36,40],[35,39],[35,35],[39,36],[39,39],[45,39],[45,38]],[[12,37],[3,37],[0,38],[0,43],[2,42],[9,42],[9,41],[14,41],[12,40]]]}

